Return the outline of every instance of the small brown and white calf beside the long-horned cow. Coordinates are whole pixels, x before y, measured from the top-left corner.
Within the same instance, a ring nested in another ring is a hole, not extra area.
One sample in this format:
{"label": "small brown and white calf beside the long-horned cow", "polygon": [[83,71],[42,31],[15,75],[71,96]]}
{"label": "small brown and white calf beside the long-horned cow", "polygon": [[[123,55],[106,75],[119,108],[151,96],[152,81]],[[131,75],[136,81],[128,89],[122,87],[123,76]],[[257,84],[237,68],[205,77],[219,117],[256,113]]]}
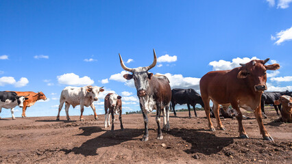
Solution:
{"label": "small brown and white calf beside the long-horned cow", "polygon": [[117,94],[107,94],[104,98],[104,111],[105,111],[105,121],[104,121],[104,128],[110,126],[110,114],[112,115],[112,131],[114,131],[114,113],[119,113],[119,120],[121,123],[121,130],[123,131],[123,123],[121,118],[121,96]]}

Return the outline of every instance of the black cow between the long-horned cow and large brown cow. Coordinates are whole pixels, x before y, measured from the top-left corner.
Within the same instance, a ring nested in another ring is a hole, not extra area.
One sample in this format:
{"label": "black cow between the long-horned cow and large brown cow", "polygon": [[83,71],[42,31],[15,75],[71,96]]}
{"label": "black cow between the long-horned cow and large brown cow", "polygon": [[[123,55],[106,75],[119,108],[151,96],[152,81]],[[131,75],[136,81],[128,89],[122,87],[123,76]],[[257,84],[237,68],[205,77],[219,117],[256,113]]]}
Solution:
{"label": "black cow between the long-horned cow and large brown cow", "polygon": [[[175,105],[183,105],[186,104],[188,106],[188,116],[191,118],[191,108],[190,105],[193,106],[193,109],[195,111],[195,105],[199,104],[202,107],[204,107],[204,103],[202,101],[202,97],[195,92],[195,90],[189,88],[189,89],[180,89],[180,88],[174,88],[171,90],[171,107],[173,109],[173,113],[176,116],[175,113]],[[197,113],[195,111],[195,116],[197,117]]]}

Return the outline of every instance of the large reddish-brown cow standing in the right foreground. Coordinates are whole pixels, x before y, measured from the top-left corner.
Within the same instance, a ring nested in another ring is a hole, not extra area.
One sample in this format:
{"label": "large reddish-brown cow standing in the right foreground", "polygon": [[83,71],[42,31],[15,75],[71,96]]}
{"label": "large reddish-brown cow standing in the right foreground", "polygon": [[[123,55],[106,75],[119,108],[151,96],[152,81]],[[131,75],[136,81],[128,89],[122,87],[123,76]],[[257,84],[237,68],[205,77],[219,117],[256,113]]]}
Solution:
{"label": "large reddish-brown cow standing in the right foreground", "polygon": [[241,67],[232,70],[211,71],[202,77],[199,81],[204,109],[208,119],[210,131],[215,131],[210,120],[210,100],[214,104],[214,113],[218,128],[225,130],[219,118],[219,105],[231,104],[236,110],[236,118],[239,122],[239,134],[241,138],[248,138],[243,128],[243,114],[240,107],[245,110],[254,111],[260,133],[265,140],[273,140],[267,133],[263,124],[262,114],[260,112],[260,97],[264,90],[267,90],[267,70],[278,70],[279,64],[265,66],[265,60],[252,60],[247,64],[241,64]]}

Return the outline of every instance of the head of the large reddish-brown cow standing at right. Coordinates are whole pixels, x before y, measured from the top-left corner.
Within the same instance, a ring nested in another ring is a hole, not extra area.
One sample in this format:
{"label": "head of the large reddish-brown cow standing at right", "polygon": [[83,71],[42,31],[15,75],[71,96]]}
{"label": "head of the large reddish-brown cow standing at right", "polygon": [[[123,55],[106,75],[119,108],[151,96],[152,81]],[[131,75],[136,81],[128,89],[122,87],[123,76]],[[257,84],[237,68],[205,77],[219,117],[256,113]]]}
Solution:
{"label": "head of the large reddish-brown cow standing at right", "polygon": [[279,64],[265,66],[269,58],[265,60],[252,60],[247,64],[241,64],[241,71],[237,74],[238,79],[245,79],[247,85],[254,88],[256,92],[267,90],[267,70],[278,70]]}

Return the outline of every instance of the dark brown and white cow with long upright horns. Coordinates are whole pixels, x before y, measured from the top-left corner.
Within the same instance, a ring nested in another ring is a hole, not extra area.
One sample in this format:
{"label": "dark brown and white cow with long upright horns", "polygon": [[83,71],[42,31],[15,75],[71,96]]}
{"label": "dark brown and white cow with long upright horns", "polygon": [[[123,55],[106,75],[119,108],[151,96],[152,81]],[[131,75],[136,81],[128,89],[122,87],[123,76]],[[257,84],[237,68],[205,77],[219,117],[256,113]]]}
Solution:
{"label": "dark brown and white cow with long upright horns", "polygon": [[145,131],[142,141],[149,139],[148,133],[148,116],[147,112],[156,109],[156,123],[158,126],[158,137],[157,139],[163,139],[162,131],[160,128],[160,113],[163,114],[163,129],[169,131],[169,102],[171,100],[171,87],[169,85],[169,79],[163,75],[153,75],[148,72],[151,68],[156,65],[157,57],[155,50],[154,61],[150,66],[138,67],[138,68],[127,68],[123,64],[123,59],[120,57],[121,67],[124,70],[132,72],[132,74],[124,74],[123,77],[127,80],[134,79],[134,84],[137,90],[137,96],[140,100],[140,107],[143,113]]}

